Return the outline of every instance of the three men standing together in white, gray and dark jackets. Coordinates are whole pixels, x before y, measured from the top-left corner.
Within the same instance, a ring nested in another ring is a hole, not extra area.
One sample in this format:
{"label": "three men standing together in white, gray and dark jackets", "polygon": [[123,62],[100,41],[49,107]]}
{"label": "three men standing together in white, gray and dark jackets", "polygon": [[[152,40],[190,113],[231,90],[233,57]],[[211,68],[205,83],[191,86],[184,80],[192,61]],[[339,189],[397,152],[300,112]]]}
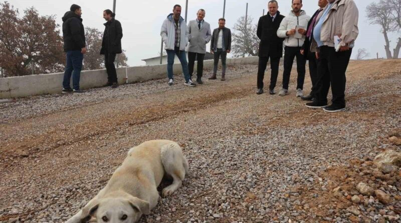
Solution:
{"label": "three men standing together in white, gray and dark jackets", "polygon": [[[204,18],[206,12],[200,9],[196,13],[196,20],[185,24],[181,17],[181,6],[175,5],[171,14],[167,16],[161,26],[160,36],[164,42],[164,49],[167,52],[167,76],[168,85],[173,85],[173,64],[174,57],[177,55],[181,62],[182,73],[185,78],[185,85],[196,87],[192,82],[193,67],[197,61],[196,83],[203,84],[204,58],[206,54],[206,44],[211,42],[210,52],[214,54],[213,76],[210,80],[217,79],[217,69],[219,60],[222,60],[222,81],[226,80],[226,59],[231,52],[231,30],[226,28],[226,20],[219,19],[219,28],[211,32],[210,24]],[[185,49],[188,45],[188,61],[186,61]]]}

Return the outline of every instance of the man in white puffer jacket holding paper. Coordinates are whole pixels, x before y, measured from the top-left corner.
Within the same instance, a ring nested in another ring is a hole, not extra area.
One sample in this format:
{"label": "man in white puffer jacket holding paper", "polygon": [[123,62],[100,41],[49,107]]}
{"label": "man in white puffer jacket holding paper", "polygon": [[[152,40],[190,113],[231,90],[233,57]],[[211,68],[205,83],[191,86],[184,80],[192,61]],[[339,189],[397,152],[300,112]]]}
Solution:
{"label": "man in white puffer jacket holding paper", "polygon": [[[306,15],[305,11],[301,10],[302,0],[292,0],[292,11],[290,15],[281,21],[280,28],[277,30],[277,36],[285,38],[284,40],[284,73],[283,73],[283,89],[279,95],[284,96],[288,94],[288,84],[290,82],[290,74],[294,58],[297,58],[297,97],[302,97],[302,89],[305,80],[305,64],[306,60],[301,55],[301,47],[305,41],[306,27],[310,17]],[[296,26],[302,26],[305,29],[299,29],[298,33],[302,35],[301,39],[296,38]]]}

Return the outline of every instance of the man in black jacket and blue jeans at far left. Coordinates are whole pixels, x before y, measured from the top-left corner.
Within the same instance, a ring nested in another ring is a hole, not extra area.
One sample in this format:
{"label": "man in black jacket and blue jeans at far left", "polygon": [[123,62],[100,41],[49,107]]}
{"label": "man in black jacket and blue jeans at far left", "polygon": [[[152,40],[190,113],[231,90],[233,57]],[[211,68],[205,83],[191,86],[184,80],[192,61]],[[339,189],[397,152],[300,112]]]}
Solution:
{"label": "man in black jacket and blue jeans at far left", "polygon": [[[82,11],[78,5],[72,5],[70,11],[64,14],[63,39],[64,52],[67,54],[67,63],[63,79],[63,93],[81,93],[79,79],[81,76],[82,61],[86,53],[85,30],[81,19]],[[70,87],[72,75],[73,89]]]}

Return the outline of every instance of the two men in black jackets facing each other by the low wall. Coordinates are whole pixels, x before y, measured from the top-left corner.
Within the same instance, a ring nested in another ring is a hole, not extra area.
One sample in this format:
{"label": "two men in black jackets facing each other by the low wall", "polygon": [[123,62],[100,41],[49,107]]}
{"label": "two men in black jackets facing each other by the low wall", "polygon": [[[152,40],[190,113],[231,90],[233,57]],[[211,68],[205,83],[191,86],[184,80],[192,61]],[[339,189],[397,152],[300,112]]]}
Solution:
{"label": "two men in black jackets facing each other by the low wall", "polygon": [[[82,62],[86,53],[85,30],[82,24],[82,10],[73,4],[70,11],[64,14],[63,39],[64,51],[66,52],[66,67],[63,78],[62,93],[82,93],[79,80],[82,70]],[[121,23],[114,19],[115,14],[111,10],[103,11],[103,18],[107,21],[104,26],[102,48],[100,54],[104,55],[104,64],[107,70],[106,86],[118,87],[117,73],[114,66],[116,54],[121,54],[122,28]],[[70,86],[72,76],[73,87]]]}

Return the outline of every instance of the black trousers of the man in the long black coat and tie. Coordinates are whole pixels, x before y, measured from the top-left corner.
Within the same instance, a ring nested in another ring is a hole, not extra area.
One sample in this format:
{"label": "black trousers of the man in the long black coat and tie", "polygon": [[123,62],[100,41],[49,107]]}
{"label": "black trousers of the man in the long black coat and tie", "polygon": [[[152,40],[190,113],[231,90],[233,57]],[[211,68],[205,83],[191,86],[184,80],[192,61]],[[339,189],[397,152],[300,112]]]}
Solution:
{"label": "black trousers of the man in the long black coat and tie", "polygon": [[279,75],[279,65],[280,65],[280,57],[259,57],[259,64],[258,64],[258,89],[263,89],[263,79],[265,77],[265,71],[267,67],[267,62],[270,58],[270,69],[272,70],[270,76],[270,86],[269,89],[273,90],[276,87],[277,77]]}

